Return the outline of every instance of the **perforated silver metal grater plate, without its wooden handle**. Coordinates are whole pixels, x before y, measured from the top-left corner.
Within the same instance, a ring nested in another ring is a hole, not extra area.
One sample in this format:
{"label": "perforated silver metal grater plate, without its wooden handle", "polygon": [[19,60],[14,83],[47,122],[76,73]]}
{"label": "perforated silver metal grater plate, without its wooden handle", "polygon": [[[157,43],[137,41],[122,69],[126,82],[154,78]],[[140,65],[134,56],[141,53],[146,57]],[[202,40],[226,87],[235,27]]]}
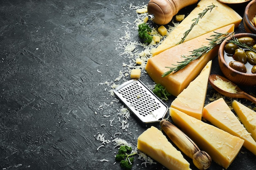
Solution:
{"label": "perforated silver metal grater plate, without its wooden handle", "polygon": [[168,111],[162,100],[139,79],[131,79],[121,84],[114,93],[144,123],[157,122]]}

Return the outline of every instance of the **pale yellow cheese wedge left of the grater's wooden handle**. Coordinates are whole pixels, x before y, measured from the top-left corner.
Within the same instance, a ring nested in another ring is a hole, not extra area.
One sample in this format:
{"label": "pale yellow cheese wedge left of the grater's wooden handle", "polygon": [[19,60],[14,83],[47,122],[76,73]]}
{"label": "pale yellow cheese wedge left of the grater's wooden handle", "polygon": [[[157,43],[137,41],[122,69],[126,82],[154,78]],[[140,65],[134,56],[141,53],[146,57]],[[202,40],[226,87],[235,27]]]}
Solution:
{"label": "pale yellow cheese wedge left of the grater's wooden handle", "polygon": [[154,126],[138,137],[137,148],[168,170],[191,170],[189,162],[184,159],[181,152],[174,148],[166,136]]}

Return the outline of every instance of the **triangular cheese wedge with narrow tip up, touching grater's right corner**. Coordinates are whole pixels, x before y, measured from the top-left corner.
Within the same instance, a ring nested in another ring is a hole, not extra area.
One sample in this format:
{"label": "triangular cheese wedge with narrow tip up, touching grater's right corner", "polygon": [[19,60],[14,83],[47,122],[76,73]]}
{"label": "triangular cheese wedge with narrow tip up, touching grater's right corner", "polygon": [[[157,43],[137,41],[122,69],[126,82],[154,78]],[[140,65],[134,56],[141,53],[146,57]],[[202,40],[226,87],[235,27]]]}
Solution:
{"label": "triangular cheese wedge with narrow tip up, touching grater's right corner", "polygon": [[173,100],[172,108],[176,108],[196,119],[202,119],[211,63],[212,61],[209,61],[198,77]]}

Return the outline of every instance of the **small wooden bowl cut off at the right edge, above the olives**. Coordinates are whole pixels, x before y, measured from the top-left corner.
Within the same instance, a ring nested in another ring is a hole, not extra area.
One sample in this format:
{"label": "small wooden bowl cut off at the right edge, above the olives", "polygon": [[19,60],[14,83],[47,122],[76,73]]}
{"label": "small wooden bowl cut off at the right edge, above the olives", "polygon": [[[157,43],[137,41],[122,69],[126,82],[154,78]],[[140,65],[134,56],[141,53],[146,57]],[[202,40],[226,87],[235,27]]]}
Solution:
{"label": "small wooden bowl cut off at the right edge, above the olives", "polygon": [[256,26],[254,26],[251,22],[256,15],[256,0],[252,0],[245,7],[245,13],[243,17],[243,23],[245,26],[245,31],[247,33],[256,33]]}

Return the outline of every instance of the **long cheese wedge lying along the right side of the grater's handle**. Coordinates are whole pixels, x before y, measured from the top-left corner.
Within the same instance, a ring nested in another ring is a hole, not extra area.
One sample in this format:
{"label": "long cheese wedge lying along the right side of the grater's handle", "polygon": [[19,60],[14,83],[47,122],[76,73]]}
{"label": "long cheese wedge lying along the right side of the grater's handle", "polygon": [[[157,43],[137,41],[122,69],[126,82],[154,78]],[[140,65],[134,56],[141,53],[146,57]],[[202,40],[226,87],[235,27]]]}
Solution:
{"label": "long cheese wedge lying along the right side of the grater's handle", "polygon": [[175,108],[170,108],[173,122],[179,126],[213,161],[225,169],[234,161],[244,140],[204,123]]}

